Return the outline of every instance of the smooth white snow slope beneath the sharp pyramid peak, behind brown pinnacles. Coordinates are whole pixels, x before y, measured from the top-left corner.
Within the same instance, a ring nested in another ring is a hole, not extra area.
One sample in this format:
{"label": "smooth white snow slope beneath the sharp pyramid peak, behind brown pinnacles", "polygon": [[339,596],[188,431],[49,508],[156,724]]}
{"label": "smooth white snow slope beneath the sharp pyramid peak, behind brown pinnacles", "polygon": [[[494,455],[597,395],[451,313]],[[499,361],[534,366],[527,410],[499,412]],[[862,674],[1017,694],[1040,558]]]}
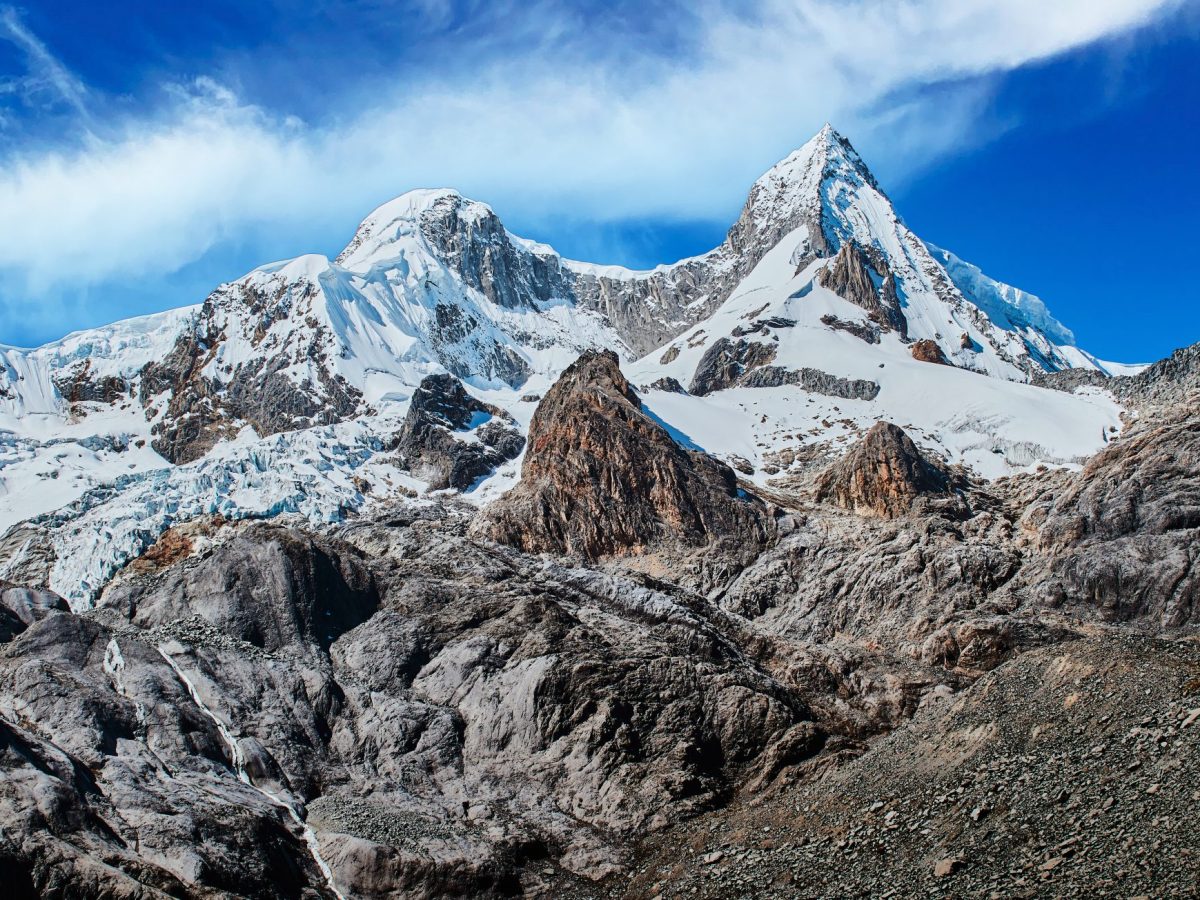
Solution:
{"label": "smooth white snow slope beneath the sharp pyramid peak, behind brown pinnacles", "polygon": [[733,337],[761,320],[794,322],[744,340],[775,347],[772,365],[791,370],[816,368],[830,376],[864,379],[880,385],[874,400],[846,400],[804,391],[794,385],[733,388],[696,397],[653,390],[647,404],[695,444],[716,456],[739,456],[755,467],[754,479],[766,484],[786,473],[780,450],[803,445],[844,446],[875,421],[904,427],[918,444],[952,462],[997,478],[1037,463],[1075,464],[1104,446],[1120,427],[1121,408],[1106,392],[1049,391],[1021,382],[914,360],[895,332],[872,344],[845,330],[834,330],[822,317],[866,324],[862,308],[816,283],[824,265],[817,260],[797,272],[791,264],[793,234],[768,253],[720,310],[662,350],[628,366],[635,384],[664,377],[688,385],[701,358],[715,341]]}

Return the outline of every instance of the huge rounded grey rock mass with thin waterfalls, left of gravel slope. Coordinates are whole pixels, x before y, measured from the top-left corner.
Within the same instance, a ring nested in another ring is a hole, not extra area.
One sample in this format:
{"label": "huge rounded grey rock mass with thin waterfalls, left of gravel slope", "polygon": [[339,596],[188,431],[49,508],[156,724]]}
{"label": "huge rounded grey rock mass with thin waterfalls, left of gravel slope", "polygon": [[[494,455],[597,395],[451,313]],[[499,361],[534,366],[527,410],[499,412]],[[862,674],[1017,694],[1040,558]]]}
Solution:
{"label": "huge rounded grey rock mass with thin waterfalls, left of gravel slope", "polygon": [[[517,866],[608,874],[614,839],[821,749],[761,638],[702,598],[457,530],[366,524],[359,552],[251,528],[17,637],[0,848],[29,893],[328,896],[325,865],[353,896],[511,895],[536,883]],[[323,566],[313,605],[294,572]],[[859,702],[826,671],[832,707]]]}

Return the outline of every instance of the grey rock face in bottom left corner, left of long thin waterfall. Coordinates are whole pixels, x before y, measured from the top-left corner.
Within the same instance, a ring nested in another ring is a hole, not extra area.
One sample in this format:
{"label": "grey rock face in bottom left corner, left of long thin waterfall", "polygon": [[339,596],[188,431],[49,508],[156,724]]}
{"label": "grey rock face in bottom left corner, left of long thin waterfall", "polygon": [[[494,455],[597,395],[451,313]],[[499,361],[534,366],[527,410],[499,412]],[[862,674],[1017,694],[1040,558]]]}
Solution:
{"label": "grey rock face in bottom left corner, left of long thin waterfall", "polygon": [[0,721],[13,895],[299,899],[322,883],[154,643],[50,616],[0,656],[0,695],[23,704],[20,724]]}

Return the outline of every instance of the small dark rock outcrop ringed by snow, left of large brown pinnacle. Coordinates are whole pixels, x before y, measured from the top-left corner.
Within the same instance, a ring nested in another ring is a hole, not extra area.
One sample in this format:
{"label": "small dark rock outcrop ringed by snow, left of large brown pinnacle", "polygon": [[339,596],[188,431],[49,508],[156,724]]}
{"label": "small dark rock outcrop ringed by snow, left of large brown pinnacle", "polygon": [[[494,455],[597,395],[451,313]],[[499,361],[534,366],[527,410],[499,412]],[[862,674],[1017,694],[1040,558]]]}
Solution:
{"label": "small dark rock outcrop ringed by snow, left of large brown pinnacle", "polygon": [[[480,425],[479,418],[486,421]],[[524,449],[521,432],[502,418],[500,410],[467,394],[454,376],[427,376],[413,392],[396,449],[431,490],[466,491]],[[452,434],[472,430],[474,442]]]}

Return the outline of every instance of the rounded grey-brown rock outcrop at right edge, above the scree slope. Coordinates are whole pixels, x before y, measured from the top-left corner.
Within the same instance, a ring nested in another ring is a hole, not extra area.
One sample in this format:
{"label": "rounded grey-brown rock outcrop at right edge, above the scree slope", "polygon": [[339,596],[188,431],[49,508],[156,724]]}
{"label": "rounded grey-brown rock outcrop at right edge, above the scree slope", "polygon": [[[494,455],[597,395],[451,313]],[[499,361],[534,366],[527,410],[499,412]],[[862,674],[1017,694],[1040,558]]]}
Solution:
{"label": "rounded grey-brown rock outcrop at right edge, above the scree slope", "polygon": [[1052,557],[1051,600],[1164,628],[1200,620],[1200,415],[1147,422],[1028,521]]}

